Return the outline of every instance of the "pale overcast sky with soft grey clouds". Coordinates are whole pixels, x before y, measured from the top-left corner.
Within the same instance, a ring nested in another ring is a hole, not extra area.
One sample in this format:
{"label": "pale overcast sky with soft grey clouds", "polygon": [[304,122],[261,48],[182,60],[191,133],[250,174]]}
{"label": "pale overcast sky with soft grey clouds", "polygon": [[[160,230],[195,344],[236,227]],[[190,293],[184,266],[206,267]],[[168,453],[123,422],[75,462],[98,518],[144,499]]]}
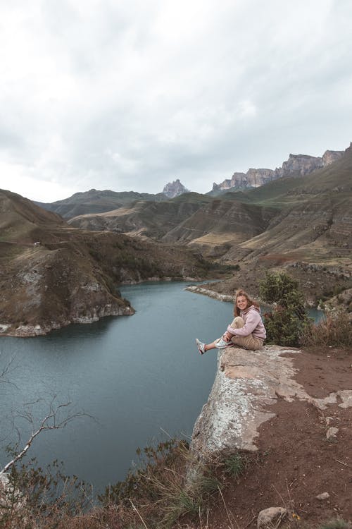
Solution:
{"label": "pale overcast sky with soft grey clouds", "polygon": [[0,0],[0,188],[206,193],[352,140],[348,0]]}

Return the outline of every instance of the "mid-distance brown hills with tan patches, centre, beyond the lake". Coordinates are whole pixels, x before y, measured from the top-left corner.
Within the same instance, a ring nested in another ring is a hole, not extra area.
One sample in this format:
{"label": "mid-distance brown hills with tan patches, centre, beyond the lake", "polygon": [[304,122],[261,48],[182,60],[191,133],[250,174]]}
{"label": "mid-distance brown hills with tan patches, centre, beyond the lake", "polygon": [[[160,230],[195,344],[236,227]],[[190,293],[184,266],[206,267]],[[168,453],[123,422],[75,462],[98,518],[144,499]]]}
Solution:
{"label": "mid-distance brown hills with tan patches, centre, beyond the lake", "polygon": [[187,193],[167,202],[134,202],[130,207],[70,219],[80,229],[108,229],[163,243],[188,245],[220,255],[268,226],[277,209],[246,205],[233,193],[213,199]]}

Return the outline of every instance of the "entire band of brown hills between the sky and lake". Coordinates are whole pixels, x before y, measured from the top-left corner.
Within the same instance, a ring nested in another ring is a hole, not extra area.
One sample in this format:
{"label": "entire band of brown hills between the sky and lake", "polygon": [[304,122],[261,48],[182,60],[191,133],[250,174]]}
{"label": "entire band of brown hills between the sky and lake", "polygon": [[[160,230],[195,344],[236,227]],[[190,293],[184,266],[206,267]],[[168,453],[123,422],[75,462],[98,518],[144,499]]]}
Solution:
{"label": "entire band of brown hills between the sky and lake", "polygon": [[352,147],[303,169],[216,196],[90,190],[39,207],[1,191],[2,334],[132,314],[118,285],[150,279],[220,279],[206,289],[258,296],[269,270],[298,279],[307,305],[351,313]]}

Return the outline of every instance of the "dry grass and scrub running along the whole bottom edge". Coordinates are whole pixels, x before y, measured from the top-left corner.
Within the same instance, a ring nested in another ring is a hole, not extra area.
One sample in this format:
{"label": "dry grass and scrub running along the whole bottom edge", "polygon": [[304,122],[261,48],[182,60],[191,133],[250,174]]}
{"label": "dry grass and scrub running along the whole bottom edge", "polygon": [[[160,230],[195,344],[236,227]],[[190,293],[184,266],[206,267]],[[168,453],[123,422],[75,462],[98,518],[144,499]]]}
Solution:
{"label": "dry grass and scrub running along the whole bottom edge", "polygon": [[[0,528],[215,529],[218,525],[209,521],[209,513],[213,509],[220,509],[225,526],[239,529],[237,518],[228,504],[226,490],[232,480],[238,481],[243,473],[253,471],[245,454],[236,453],[225,460],[219,458],[208,466],[196,463],[194,468],[197,472],[191,480],[189,475],[187,478],[187,471],[189,463],[194,463],[194,456],[184,442],[172,440],[167,446],[161,443],[156,448],[148,447],[144,455],[144,463],[138,470],[127,476],[125,482],[106,491],[101,498],[104,500],[103,506],[87,505],[82,501],[84,494],[81,494],[82,503],[76,503],[72,509],[67,482],[63,494],[55,501],[50,501],[47,494],[36,501],[33,498],[23,501],[24,496],[16,493],[7,511],[4,510],[4,503],[2,508],[0,504]],[[35,477],[36,474],[30,474],[31,487],[37,487],[37,480],[32,481]],[[35,487],[32,492],[35,492]],[[30,490],[27,488],[28,492]],[[280,504],[291,512],[291,497],[288,503],[281,495],[279,497]],[[251,523],[255,518],[256,513]],[[304,529],[312,529],[298,521],[299,516],[293,513],[284,527],[296,529],[299,525]],[[337,518],[321,525],[319,529],[352,528],[350,523]]]}

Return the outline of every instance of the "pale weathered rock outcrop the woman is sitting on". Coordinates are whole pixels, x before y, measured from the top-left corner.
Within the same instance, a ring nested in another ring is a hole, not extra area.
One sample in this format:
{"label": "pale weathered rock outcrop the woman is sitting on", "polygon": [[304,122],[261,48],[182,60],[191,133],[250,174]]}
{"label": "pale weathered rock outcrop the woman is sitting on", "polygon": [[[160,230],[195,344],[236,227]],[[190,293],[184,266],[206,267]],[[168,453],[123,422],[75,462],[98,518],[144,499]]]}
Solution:
{"label": "pale weathered rock outcrop the woman is sitting on", "polygon": [[352,406],[350,390],[337,391],[326,399],[310,396],[294,379],[296,355],[301,351],[279,346],[265,346],[260,351],[220,351],[213,388],[194,425],[192,451],[201,459],[227,456],[237,450],[256,451],[258,427],[275,416],[270,406],[277,399],[308,401],[317,410],[337,402],[340,408]]}

